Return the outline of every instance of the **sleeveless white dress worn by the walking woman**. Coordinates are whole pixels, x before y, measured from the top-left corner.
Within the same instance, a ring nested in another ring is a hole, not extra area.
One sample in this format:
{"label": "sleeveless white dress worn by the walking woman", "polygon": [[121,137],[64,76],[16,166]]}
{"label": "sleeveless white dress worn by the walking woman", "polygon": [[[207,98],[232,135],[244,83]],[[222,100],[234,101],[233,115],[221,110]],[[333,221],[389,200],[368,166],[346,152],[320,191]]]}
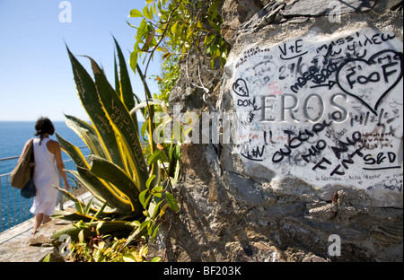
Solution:
{"label": "sleeveless white dress worn by the walking woman", "polygon": [[57,171],[55,155],[48,151],[47,143],[50,139],[34,138],[33,149],[35,155],[34,183],[37,194],[30,209],[32,214],[51,215],[57,203],[57,189],[60,187],[59,172]]}

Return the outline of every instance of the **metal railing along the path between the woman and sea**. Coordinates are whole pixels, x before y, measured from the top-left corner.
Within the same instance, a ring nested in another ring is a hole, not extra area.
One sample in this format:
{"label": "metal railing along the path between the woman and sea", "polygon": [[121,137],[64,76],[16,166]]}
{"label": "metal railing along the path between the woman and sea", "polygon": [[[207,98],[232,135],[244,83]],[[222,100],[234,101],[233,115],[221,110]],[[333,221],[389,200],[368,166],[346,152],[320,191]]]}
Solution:
{"label": "metal railing along the path between the woman and sea", "polygon": [[[84,146],[85,147],[85,146]],[[80,147],[83,148],[83,147]],[[85,147],[86,148],[86,147]],[[86,156],[87,158],[88,156]],[[0,159],[0,162],[18,160],[19,156]],[[75,170],[75,162],[72,160],[63,161],[66,170]],[[79,196],[87,190],[77,184],[73,178],[68,176],[70,192]],[[63,186],[63,184],[61,184]],[[10,184],[10,173],[0,174],[0,232],[4,232],[14,226],[23,223],[33,215],[30,212],[33,198],[24,198],[20,195],[20,189],[13,188]],[[66,198],[60,193],[57,196],[57,204],[62,206]],[[56,205],[57,206],[57,205]]]}

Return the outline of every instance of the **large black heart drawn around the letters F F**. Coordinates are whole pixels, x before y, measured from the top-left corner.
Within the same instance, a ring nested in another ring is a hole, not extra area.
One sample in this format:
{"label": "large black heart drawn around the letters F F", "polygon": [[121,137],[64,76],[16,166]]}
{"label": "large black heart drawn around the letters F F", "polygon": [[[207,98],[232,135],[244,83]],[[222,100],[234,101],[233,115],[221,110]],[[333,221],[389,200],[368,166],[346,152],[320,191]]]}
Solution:
{"label": "large black heart drawn around the letters F F", "polygon": [[383,98],[402,78],[402,59],[402,53],[391,49],[382,50],[368,60],[347,59],[338,69],[338,86],[377,116]]}

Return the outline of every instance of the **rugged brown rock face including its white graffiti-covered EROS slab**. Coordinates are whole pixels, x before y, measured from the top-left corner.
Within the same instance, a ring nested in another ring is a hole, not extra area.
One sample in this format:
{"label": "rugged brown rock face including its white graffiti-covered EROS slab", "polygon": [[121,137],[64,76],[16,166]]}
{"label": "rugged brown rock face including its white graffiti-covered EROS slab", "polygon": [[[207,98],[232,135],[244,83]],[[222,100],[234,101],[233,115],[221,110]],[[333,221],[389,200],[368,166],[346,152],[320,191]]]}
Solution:
{"label": "rugged brown rock face including its white graffiti-covered EROS slab", "polygon": [[195,63],[171,92],[220,142],[181,146],[180,212],[155,252],[402,261],[402,1],[225,0],[221,13],[224,71]]}

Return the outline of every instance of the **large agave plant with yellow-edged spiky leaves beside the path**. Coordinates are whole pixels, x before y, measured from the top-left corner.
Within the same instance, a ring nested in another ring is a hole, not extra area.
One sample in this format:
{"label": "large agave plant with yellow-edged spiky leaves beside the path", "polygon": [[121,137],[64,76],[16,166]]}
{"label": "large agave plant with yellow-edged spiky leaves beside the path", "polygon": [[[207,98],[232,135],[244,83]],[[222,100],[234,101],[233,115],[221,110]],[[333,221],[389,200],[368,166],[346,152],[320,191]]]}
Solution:
{"label": "large agave plant with yellow-edged spiky leaves beside the path", "polygon": [[[94,238],[96,234],[127,232],[130,238],[125,241],[125,244],[129,246],[135,237],[137,240],[142,237],[146,239],[151,237],[154,240],[162,223],[162,214],[167,207],[178,211],[178,207],[175,207],[172,202],[172,195],[166,197],[166,193],[169,188],[172,188],[176,179],[171,178],[168,173],[172,167],[167,170],[163,162],[173,164],[174,170],[177,171],[174,174],[178,176],[178,157],[171,162],[169,159],[172,156],[162,156],[166,152],[162,149],[158,150],[153,141],[154,124],[151,120],[154,115],[154,105],[152,104],[161,104],[162,101],[147,103],[147,108],[143,110],[144,114],[150,117],[145,118],[145,128],[142,129],[148,139],[144,145],[149,154],[154,155],[153,159],[147,160],[148,153],[144,153],[142,149],[136,119],[136,108],[144,108],[145,105],[137,104],[136,106],[125,58],[118,43],[116,41],[115,43],[119,60],[119,67],[115,63],[117,79],[115,89],[91,57],[88,59],[91,62],[94,79],[67,48],[77,91],[92,123],[66,116],[66,125],[73,129],[90,149],[89,162],[74,144],[59,135],[57,140],[76,164],[77,170],[68,172],[75,176],[75,179],[85,188],[88,188],[93,197],[89,202],[84,203],[66,190],[59,188],[66,197],[75,202],[76,211],[74,213],[59,211],[54,217],[78,222],[58,231],[55,238],[67,234],[72,241],[83,243],[83,239]],[[137,68],[137,73],[145,84],[146,98],[148,98],[150,92],[145,83],[145,77],[140,68],[138,66]],[[162,147],[159,145],[159,148]],[[155,151],[161,154],[154,154]],[[162,174],[162,171],[165,171],[166,175]],[[133,222],[134,220],[136,221]],[[94,228],[97,231],[94,231]],[[83,246],[80,251],[84,253]],[[128,251],[125,254],[131,253]],[[125,258],[125,254],[122,258]]]}

